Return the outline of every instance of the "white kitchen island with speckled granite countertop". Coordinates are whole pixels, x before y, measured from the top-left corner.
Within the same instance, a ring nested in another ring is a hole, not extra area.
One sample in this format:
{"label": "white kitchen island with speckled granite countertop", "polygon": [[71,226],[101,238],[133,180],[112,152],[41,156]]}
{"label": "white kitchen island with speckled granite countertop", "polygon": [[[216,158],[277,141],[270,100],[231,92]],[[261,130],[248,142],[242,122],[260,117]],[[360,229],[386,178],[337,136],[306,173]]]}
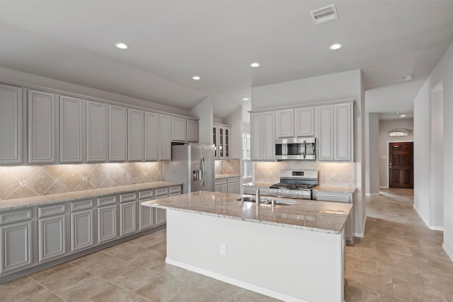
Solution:
{"label": "white kitchen island with speckled granite countertop", "polygon": [[352,205],[257,206],[241,196],[193,192],[142,202],[167,210],[166,262],[284,301],[343,301]]}

